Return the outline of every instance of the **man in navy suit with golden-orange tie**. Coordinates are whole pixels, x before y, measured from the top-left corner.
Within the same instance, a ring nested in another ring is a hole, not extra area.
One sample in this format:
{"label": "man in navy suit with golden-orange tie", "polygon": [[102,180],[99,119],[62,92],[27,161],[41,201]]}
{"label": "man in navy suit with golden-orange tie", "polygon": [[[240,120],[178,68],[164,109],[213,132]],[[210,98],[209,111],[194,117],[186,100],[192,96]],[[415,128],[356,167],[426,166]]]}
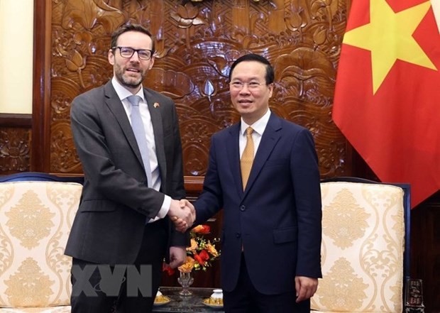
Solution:
{"label": "man in navy suit with golden-orange tie", "polygon": [[[321,192],[312,134],[270,111],[274,70],[265,57],[239,57],[229,79],[241,121],[212,136],[203,192],[194,202],[196,224],[224,209],[225,311],[309,312],[321,278]],[[248,126],[251,157],[243,152]],[[251,163],[248,174],[241,170],[243,158]]]}

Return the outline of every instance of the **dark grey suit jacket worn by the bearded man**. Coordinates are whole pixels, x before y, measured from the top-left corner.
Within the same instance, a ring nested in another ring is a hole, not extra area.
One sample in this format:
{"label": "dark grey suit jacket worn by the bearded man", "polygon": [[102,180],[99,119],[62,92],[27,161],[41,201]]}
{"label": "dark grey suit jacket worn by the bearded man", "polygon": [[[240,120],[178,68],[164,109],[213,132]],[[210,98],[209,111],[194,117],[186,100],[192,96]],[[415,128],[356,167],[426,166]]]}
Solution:
{"label": "dark grey suit jacket worn by the bearded man", "polygon": [[[72,102],[72,132],[85,180],[65,249],[68,256],[109,265],[135,263],[145,250],[146,218],[156,216],[164,194],[173,199],[185,197],[174,103],[153,90],[143,91],[155,134],[160,192],[147,187],[136,138],[111,82]],[[187,237],[175,231],[167,216],[156,223],[165,229],[167,246],[186,245]],[[162,246],[154,248],[169,251]]]}

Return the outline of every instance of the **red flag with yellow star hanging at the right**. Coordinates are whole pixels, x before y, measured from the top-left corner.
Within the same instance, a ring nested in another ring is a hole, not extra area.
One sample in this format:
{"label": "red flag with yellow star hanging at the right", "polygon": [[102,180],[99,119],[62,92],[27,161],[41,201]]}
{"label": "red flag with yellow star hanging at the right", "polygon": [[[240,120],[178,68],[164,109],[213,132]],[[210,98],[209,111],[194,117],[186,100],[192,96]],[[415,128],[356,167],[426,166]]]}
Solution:
{"label": "red flag with yellow star hanging at the right", "polygon": [[440,14],[433,7],[440,9],[426,0],[353,1],[332,113],[381,181],[411,184],[412,207],[440,190]]}

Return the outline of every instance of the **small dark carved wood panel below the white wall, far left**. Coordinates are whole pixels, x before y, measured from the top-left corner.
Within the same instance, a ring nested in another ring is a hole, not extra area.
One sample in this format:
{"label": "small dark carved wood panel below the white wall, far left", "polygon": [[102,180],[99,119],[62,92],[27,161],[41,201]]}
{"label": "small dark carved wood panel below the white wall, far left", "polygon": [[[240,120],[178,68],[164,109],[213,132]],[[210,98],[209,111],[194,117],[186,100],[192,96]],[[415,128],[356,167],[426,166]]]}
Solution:
{"label": "small dark carved wood panel below the white wall, far left", "polygon": [[0,173],[28,171],[31,130],[28,128],[0,128]]}

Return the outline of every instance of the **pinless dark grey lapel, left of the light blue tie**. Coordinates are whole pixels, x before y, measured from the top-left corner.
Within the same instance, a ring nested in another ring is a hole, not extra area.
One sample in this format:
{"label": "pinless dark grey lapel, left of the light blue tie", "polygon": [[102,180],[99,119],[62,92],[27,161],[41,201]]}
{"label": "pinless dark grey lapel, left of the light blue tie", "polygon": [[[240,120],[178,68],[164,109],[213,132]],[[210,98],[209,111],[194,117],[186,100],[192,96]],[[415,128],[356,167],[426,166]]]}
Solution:
{"label": "pinless dark grey lapel, left of the light blue tie", "polygon": [[136,137],[134,136],[133,128],[131,128],[130,121],[128,121],[126,111],[125,109],[123,109],[123,104],[121,102],[121,99],[119,99],[118,94],[116,94],[116,91],[111,85],[111,81],[106,83],[106,85],[104,86],[104,95],[106,97],[106,105],[109,107],[111,113],[114,114],[114,117],[116,121],[118,121],[119,126],[121,126],[123,134],[126,137],[128,143],[130,144],[131,149],[133,149],[133,153],[136,155],[136,158],[138,158],[138,161],[143,168],[141,151],[138,148],[138,143],[136,142]]}

